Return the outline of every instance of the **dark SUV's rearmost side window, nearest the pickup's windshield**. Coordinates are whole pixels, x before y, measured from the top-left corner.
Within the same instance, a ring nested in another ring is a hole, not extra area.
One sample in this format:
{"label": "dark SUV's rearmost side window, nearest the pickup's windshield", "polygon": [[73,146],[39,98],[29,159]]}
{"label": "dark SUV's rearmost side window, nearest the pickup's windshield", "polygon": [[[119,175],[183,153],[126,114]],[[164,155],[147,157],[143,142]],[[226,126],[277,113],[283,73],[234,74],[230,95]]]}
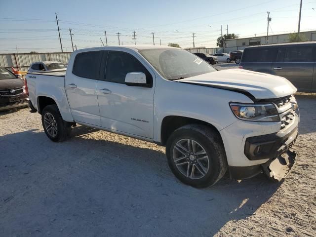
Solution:
{"label": "dark SUV's rearmost side window, nearest the pickup's windshield", "polygon": [[271,63],[276,61],[278,49],[272,48],[249,48],[245,50],[243,62],[245,63]]}

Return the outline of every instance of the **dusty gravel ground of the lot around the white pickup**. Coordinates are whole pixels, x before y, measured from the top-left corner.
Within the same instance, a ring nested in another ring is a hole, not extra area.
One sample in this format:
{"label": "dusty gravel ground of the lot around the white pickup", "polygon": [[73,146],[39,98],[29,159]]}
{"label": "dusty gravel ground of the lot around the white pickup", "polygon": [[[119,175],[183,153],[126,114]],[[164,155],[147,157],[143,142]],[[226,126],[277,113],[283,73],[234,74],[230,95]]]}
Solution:
{"label": "dusty gravel ground of the lot around the white pickup", "polygon": [[40,115],[0,114],[0,236],[315,236],[316,96],[298,95],[297,165],[195,189],[170,172],[164,148],[84,126],[51,142]]}

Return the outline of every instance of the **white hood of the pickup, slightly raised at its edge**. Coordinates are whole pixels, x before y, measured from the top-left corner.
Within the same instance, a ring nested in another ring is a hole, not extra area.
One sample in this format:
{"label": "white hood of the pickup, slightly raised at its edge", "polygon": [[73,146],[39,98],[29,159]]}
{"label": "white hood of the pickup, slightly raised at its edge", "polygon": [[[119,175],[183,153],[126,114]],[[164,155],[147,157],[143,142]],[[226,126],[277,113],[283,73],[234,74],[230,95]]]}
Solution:
{"label": "white hood of the pickup, slightly raised at its edge", "polygon": [[285,78],[244,69],[221,70],[177,81],[237,91],[254,99],[275,99],[297,91]]}

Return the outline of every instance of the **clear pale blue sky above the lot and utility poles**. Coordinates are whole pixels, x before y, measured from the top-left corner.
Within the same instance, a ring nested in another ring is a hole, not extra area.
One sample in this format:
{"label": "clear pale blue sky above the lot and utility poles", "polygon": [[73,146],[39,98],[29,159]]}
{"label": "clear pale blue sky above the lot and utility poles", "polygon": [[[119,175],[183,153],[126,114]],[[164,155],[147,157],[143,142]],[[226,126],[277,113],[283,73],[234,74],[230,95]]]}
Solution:
{"label": "clear pale blue sky above the lot and utility poles", "polygon": [[[0,53],[72,51],[69,28],[77,48],[136,44],[183,48],[216,47],[216,39],[229,33],[239,38],[297,32],[300,0],[0,0]],[[316,0],[303,0],[301,31],[316,30]]]}

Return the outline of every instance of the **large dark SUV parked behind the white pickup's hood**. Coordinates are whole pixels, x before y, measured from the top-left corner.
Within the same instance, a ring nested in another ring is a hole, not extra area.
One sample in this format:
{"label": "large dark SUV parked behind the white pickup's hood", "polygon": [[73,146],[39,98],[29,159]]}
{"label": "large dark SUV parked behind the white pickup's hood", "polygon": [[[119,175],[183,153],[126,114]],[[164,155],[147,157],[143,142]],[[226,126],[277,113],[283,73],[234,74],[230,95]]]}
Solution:
{"label": "large dark SUV parked behind the white pickup's hood", "polygon": [[281,76],[301,92],[316,92],[316,43],[281,43],[247,47],[239,68]]}

